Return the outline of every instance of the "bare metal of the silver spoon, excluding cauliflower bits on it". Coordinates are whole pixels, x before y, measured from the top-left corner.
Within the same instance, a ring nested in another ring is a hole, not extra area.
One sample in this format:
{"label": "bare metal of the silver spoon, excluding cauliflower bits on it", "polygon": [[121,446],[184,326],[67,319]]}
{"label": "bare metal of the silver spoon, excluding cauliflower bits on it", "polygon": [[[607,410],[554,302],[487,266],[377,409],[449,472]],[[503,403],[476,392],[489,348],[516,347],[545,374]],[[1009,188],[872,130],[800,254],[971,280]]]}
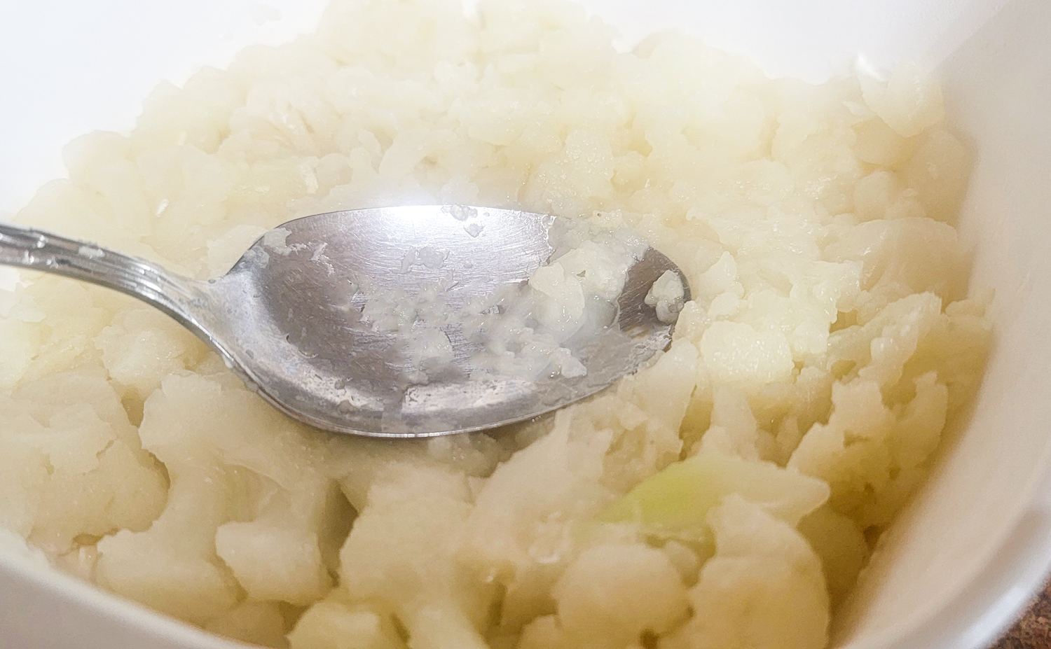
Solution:
{"label": "bare metal of the silver spoon, excluding cauliflower bits on it", "polygon": [[[92,244],[0,224],[0,264],[90,281],[148,302],[208,343],[249,389],[308,424],[375,437],[428,437],[561,407],[633,372],[671,342],[674,324],[658,320],[644,298],[666,270],[686,282],[652,248],[628,272],[619,328],[609,328],[577,354],[585,376],[472,378],[470,359],[479,346],[453,324],[446,333],[458,371],[406,384],[395,334],[348,317],[351,282],[360,278],[409,293],[444,280],[453,285],[446,297],[450,309],[522,282],[552,254],[553,222],[517,210],[460,206],[317,214],[272,230],[226,275],[209,281]],[[414,251],[424,249],[440,250],[445,258],[413,264]]]}

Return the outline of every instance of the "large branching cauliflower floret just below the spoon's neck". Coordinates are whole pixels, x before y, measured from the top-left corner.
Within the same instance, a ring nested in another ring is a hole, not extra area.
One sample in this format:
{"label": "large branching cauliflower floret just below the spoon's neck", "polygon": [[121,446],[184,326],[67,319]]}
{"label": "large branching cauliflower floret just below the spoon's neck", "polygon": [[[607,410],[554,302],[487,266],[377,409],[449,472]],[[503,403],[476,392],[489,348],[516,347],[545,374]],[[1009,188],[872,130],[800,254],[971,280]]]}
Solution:
{"label": "large branching cauliflower floret just below the spoon's neck", "polygon": [[[245,590],[300,604],[323,596],[327,519],[338,509],[313,435],[226,375],[164,379],[140,436],[167,466],[168,504],[148,530],[100,542],[100,581],[199,623]],[[163,579],[168,571],[184,578]]]}

